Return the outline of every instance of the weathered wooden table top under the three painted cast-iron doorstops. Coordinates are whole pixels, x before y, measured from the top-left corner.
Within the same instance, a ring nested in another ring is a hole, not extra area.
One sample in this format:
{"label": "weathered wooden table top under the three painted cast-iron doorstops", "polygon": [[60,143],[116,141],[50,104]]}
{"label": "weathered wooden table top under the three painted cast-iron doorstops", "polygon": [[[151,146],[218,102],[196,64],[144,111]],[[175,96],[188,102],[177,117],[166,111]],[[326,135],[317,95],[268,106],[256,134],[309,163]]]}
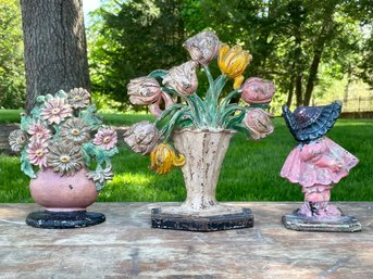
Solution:
{"label": "weathered wooden table top under the three painted cast-iron doorstops", "polygon": [[0,278],[373,278],[373,203],[338,203],[361,223],[355,233],[285,229],[281,217],[299,203],[229,204],[251,208],[254,227],[152,229],[160,203],[96,203],[101,225],[37,229],[24,220],[38,205],[0,204]]}

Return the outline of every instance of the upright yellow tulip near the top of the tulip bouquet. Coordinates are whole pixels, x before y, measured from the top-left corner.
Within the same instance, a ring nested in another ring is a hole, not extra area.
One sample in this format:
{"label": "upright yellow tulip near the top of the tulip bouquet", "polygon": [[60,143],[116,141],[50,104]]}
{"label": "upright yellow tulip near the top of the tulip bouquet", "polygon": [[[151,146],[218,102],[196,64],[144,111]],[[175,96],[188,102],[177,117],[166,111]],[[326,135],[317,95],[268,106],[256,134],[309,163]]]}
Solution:
{"label": "upright yellow tulip near the top of the tulip bouquet", "polygon": [[219,50],[217,65],[224,75],[235,80],[234,89],[238,89],[244,81],[243,73],[251,60],[250,53],[243,50],[240,46],[229,48],[228,45],[222,45]]}

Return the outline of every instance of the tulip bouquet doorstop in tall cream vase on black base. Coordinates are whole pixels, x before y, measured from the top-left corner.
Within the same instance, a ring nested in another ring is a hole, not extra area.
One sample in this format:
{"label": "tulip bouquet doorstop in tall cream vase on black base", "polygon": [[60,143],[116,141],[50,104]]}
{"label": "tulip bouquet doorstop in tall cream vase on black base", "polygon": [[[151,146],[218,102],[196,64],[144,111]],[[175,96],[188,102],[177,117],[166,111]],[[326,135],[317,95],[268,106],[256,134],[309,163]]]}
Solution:
{"label": "tulip bouquet doorstop in tall cream vase on black base", "polygon": [[[184,47],[191,56],[190,61],[169,71],[153,71],[148,76],[130,80],[127,86],[130,102],[149,105],[150,112],[158,118],[154,123],[133,125],[125,132],[124,141],[133,151],[150,155],[150,167],[158,174],[166,174],[173,166],[182,166],[187,188],[187,198],[182,206],[153,211],[152,225],[190,230],[252,226],[252,217],[249,220],[243,217],[246,224],[232,220],[243,210],[219,204],[215,188],[231,137],[236,131],[243,131],[256,140],[273,131],[272,115],[264,110],[269,107],[275,88],[271,81],[262,78],[245,80],[243,74],[252,59],[250,53],[240,46],[231,48],[221,43],[213,31],[206,30],[189,38]],[[216,56],[221,75],[214,78],[209,64]],[[206,92],[202,90],[197,93],[198,68],[209,81]],[[233,90],[226,93],[223,89],[229,79],[234,80]],[[240,97],[244,105],[232,102],[237,97]],[[177,99],[182,102],[176,102]],[[179,154],[170,144],[171,140]],[[215,221],[210,221],[211,226],[207,223],[196,225],[182,218],[182,223],[187,225],[183,227],[174,221],[169,227],[162,223],[160,214],[169,214],[164,219],[176,216],[178,220],[181,215],[194,216],[194,220],[202,215],[235,216],[222,226]],[[241,218],[241,215],[238,217]]]}

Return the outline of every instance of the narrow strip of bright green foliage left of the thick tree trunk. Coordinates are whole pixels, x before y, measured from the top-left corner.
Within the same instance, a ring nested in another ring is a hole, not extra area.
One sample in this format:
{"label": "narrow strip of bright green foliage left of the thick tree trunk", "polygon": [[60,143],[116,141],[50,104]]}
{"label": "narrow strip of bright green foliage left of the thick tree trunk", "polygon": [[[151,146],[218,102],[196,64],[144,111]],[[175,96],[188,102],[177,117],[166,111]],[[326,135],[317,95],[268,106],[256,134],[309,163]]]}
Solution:
{"label": "narrow strip of bright green foliage left of the thick tree trunk", "polygon": [[21,12],[17,0],[0,0],[0,107],[25,101]]}

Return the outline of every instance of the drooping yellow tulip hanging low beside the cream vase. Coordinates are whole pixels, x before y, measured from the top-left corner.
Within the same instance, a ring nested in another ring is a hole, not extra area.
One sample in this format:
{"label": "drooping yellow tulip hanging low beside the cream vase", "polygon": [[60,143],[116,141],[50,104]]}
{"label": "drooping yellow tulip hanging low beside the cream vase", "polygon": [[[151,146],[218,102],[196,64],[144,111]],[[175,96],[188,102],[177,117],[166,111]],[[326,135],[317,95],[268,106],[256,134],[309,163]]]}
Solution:
{"label": "drooping yellow tulip hanging low beside the cream vase", "polygon": [[183,166],[185,157],[181,154],[177,156],[170,144],[161,143],[150,153],[150,168],[161,175],[170,173],[174,166]]}

